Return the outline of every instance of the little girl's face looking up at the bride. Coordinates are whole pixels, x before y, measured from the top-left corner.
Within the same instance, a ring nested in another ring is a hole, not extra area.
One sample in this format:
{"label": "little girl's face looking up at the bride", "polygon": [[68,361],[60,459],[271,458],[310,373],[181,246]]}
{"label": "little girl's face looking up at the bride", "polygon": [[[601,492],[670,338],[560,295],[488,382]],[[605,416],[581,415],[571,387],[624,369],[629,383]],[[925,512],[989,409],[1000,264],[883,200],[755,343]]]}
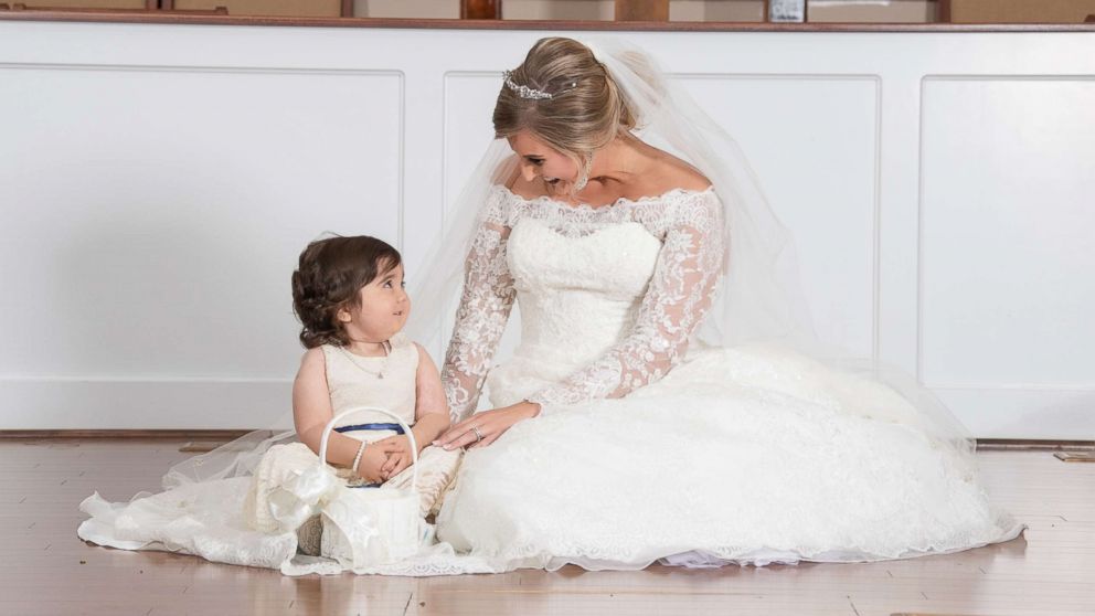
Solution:
{"label": "little girl's face looking up at the bride", "polygon": [[403,265],[384,272],[358,291],[358,307],[342,308],[338,319],[353,342],[383,342],[403,329],[411,314]]}

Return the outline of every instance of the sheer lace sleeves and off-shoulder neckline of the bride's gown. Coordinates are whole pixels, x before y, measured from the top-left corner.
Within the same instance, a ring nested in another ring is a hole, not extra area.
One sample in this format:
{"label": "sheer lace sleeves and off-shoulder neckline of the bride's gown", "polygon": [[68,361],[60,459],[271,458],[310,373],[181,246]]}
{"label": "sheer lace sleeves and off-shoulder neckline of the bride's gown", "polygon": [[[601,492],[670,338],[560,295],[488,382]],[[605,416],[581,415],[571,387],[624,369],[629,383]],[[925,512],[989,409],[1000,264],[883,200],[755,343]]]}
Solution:
{"label": "sheer lace sleeves and off-shoulder neckline of the bride's gown", "polygon": [[515,291],[506,259],[510,230],[522,217],[584,236],[637,222],[662,243],[638,320],[618,344],[560,383],[529,397],[541,412],[602,397],[621,397],[658,381],[684,357],[689,338],[711,306],[722,273],[722,205],[712,189],[672,190],[612,205],[571,206],[546,197],[524,199],[502,187],[488,197],[466,263],[460,309],[442,378],[454,421],[474,412]]}

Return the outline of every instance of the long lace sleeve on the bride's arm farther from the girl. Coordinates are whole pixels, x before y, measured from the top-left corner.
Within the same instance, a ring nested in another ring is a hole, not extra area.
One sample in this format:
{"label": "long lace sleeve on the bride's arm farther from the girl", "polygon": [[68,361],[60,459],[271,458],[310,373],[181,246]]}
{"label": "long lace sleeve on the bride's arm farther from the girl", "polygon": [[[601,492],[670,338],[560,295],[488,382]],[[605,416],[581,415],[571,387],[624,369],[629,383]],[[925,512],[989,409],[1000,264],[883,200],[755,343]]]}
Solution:
{"label": "long lace sleeve on the bride's arm farther from the girl", "polygon": [[680,363],[711,306],[722,273],[722,206],[714,193],[679,204],[631,332],[589,365],[529,397],[541,413],[559,405],[623,397]]}

